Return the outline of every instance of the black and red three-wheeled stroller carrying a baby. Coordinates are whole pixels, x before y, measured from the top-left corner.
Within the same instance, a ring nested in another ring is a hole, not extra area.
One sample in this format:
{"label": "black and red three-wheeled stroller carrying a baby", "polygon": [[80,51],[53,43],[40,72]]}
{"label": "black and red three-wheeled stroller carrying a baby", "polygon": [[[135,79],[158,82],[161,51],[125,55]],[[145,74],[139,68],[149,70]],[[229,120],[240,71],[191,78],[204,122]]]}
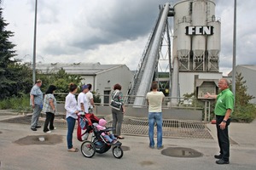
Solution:
{"label": "black and red three-wheeled stroller carrying a baby", "polygon": [[92,137],[91,140],[85,140],[83,144],[81,144],[81,152],[85,157],[92,157],[95,153],[105,153],[111,147],[113,147],[112,152],[113,156],[120,159],[124,155],[124,151],[121,148],[122,143],[117,141],[116,143],[109,143],[106,139],[103,138],[103,132],[109,132],[113,130],[113,127],[107,127],[104,130],[97,130],[97,123],[93,123],[92,125]]}

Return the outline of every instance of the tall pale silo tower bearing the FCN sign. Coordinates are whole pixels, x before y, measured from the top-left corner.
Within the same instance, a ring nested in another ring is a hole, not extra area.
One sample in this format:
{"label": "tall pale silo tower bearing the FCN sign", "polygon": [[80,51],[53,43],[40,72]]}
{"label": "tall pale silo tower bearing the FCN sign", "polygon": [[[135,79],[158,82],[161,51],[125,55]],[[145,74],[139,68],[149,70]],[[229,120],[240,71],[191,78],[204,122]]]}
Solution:
{"label": "tall pale silo tower bearing the FCN sign", "polygon": [[194,92],[195,77],[221,75],[220,21],[215,6],[214,0],[181,0],[173,6],[172,105],[183,94]]}

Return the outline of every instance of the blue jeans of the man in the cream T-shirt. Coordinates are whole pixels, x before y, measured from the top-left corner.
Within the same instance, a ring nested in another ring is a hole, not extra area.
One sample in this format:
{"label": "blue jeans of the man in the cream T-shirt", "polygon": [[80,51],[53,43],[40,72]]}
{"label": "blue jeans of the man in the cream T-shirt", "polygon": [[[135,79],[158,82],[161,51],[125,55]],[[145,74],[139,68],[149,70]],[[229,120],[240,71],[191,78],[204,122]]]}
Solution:
{"label": "blue jeans of the man in the cream T-shirt", "polygon": [[148,137],[149,146],[154,146],[154,122],[156,122],[157,127],[157,147],[162,146],[162,112],[149,112],[148,113]]}

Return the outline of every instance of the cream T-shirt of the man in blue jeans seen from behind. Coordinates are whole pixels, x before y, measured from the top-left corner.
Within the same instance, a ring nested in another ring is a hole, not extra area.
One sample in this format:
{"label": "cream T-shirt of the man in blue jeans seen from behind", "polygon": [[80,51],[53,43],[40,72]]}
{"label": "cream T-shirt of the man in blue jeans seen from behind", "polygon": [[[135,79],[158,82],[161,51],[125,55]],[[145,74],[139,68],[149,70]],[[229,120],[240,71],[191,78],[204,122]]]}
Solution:
{"label": "cream T-shirt of the man in blue jeans seen from behind", "polygon": [[162,92],[148,92],[146,99],[148,99],[148,112],[162,112],[162,102],[165,94]]}

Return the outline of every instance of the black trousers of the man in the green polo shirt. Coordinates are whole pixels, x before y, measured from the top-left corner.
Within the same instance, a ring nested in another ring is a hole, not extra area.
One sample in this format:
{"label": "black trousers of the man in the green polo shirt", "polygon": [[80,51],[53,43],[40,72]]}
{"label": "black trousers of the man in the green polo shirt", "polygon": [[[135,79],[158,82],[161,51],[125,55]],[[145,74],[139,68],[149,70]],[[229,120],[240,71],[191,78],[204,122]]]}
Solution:
{"label": "black trousers of the man in the green polo shirt", "polygon": [[220,129],[219,124],[223,121],[224,116],[216,116],[216,127],[218,136],[219,153],[224,161],[230,161],[230,139],[229,139],[229,125],[230,118],[226,122],[226,127]]}

